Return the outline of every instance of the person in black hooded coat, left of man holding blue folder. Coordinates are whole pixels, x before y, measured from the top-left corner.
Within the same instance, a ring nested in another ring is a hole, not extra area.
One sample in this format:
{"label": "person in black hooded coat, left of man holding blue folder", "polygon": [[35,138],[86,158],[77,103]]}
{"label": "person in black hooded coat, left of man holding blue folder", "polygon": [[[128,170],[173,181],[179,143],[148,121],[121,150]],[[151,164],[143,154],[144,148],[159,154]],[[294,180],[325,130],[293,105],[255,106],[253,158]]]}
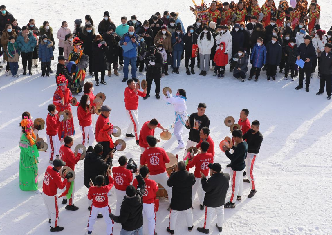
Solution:
{"label": "person in black hooded coat, left of man holding blue folder", "polygon": [[288,80],[288,72],[290,70],[290,78],[292,81],[294,81],[294,71],[295,71],[295,62],[296,62],[296,56],[297,56],[297,45],[296,45],[296,39],[292,37],[289,40],[289,43],[286,44],[283,48],[283,54],[285,55],[286,60],[286,66],[285,66],[285,80]]}

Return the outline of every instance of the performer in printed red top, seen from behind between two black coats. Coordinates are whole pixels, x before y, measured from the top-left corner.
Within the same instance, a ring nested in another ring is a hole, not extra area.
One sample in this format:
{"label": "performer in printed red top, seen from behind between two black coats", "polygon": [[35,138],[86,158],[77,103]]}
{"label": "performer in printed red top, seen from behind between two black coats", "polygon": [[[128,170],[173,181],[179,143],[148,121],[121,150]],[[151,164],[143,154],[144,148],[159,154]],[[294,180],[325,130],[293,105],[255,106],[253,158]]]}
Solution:
{"label": "performer in printed red top, seen from behind between two black coats", "polygon": [[[203,128],[205,128],[205,127],[203,127]],[[202,188],[201,172],[203,172],[205,177],[207,177],[208,172],[209,172],[208,164],[213,163],[214,155],[212,155],[211,153],[207,153],[210,144],[206,140],[204,140],[203,142],[200,142],[200,143],[201,143],[200,144],[201,153],[197,154],[192,160],[189,159],[189,162],[187,165],[187,171],[189,171],[189,168],[193,168],[195,166],[194,175],[195,175],[196,183],[193,185],[193,189],[191,191],[191,198],[192,198],[192,201],[194,201],[195,195],[197,192],[198,199],[200,200],[200,209],[204,210],[203,202],[204,202],[205,192]]]}

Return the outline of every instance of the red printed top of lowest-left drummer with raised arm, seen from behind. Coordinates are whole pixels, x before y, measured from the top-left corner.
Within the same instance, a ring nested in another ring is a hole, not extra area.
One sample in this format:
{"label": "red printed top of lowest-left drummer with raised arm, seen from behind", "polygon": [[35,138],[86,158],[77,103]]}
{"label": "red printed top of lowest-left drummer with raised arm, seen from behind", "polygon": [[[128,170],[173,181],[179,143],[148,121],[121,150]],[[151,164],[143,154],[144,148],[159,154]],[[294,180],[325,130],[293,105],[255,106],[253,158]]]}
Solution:
{"label": "red printed top of lowest-left drummer with raised arm, seen from behind", "polygon": [[88,192],[88,199],[92,199],[92,205],[94,207],[102,208],[108,206],[108,196],[107,193],[112,189],[114,181],[112,176],[108,177],[110,183],[108,185],[97,187],[91,186]]}

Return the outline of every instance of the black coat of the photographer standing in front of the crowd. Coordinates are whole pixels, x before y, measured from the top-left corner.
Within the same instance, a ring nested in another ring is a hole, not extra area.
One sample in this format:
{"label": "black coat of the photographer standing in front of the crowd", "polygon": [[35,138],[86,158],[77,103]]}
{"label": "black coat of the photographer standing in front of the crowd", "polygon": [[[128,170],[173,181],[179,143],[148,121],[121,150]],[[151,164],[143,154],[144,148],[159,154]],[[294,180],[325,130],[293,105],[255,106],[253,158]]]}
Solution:
{"label": "black coat of the photographer standing in front of the crowd", "polygon": [[[147,51],[144,63],[146,66],[146,79],[154,79],[154,78],[161,78],[161,66],[163,64],[163,57],[160,53],[158,53],[158,49],[155,49],[156,52],[151,55],[151,52]],[[151,60],[150,57],[153,57],[154,65],[151,65],[149,62]]]}

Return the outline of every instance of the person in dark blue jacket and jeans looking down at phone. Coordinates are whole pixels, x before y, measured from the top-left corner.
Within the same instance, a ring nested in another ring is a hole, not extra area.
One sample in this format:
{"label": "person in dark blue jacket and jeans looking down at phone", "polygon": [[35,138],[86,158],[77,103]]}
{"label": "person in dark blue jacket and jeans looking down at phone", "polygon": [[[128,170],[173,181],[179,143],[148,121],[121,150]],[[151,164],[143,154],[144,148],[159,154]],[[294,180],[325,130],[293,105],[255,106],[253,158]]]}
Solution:
{"label": "person in dark blue jacket and jeans looking down at phone", "polygon": [[182,27],[181,24],[178,23],[175,28],[175,32],[172,33],[171,42],[173,45],[173,52],[172,52],[172,61],[173,61],[173,71],[172,73],[179,74],[179,67],[181,63],[181,55],[184,50],[184,42],[183,37],[185,36],[184,33],[182,33]]}

